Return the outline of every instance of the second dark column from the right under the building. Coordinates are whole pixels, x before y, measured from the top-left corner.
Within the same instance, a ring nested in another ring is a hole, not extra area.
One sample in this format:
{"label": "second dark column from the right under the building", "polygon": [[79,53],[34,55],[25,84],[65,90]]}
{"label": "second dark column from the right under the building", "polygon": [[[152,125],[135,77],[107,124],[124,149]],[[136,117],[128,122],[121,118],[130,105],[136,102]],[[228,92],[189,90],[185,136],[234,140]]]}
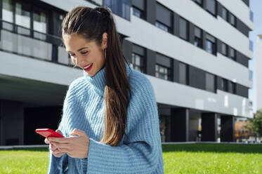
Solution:
{"label": "second dark column from the right under the building", "polygon": [[201,141],[214,141],[217,138],[217,114],[202,113],[201,115]]}

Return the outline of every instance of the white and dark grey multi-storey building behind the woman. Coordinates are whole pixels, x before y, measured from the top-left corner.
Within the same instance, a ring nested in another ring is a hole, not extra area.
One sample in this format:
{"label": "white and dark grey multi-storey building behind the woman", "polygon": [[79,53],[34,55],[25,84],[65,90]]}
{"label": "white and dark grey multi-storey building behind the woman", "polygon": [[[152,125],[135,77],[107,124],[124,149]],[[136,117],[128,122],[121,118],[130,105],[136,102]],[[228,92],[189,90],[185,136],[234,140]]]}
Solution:
{"label": "white and dark grey multi-storey building behind the woman", "polygon": [[76,6],[114,13],[124,56],[155,90],[163,142],[235,140],[235,118],[252,116],[249,0],[1,0],[0,145],[42,144],[34,129],[57,128],[82,76],[60,32]]}

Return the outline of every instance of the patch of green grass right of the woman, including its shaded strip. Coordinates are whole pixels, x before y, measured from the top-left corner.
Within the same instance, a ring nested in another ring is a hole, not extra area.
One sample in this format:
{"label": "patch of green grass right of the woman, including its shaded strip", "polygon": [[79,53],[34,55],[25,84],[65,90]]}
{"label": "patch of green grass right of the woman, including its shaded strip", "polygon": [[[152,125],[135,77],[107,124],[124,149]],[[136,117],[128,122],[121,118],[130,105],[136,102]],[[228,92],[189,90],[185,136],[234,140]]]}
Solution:
{"label": "patch of green grass right of the woman, including its shaded strip", "polygon": [[162,145],[164,173],[262,173],[262,145]]}

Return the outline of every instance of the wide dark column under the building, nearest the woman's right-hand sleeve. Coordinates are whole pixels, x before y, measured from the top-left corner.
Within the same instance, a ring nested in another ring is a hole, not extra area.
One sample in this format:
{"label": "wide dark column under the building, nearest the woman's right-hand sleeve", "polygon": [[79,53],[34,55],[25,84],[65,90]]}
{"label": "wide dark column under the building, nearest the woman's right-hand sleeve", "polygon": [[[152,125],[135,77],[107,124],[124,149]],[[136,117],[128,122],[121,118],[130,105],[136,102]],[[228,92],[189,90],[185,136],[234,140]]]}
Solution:
{"label": "wide dark column under the building, nearest the woman's right-hand sleeve", "polygon": [[189,109],[173,108],[171,109],[171,141],[188,142],[189,140]]}

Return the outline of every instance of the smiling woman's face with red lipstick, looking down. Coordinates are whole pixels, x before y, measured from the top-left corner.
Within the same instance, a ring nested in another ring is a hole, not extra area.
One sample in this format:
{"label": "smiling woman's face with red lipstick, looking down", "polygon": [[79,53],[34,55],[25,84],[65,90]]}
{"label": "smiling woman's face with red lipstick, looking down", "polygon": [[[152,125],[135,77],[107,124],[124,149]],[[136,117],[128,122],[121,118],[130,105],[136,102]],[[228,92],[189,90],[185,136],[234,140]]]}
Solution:
{"label": "smiling woman's face with red lipstick, looking down", "polygon": [[[104,39],[103,39],[104,40]],[[63,41],[74,65],[94,76],[105,65],[105,46],[87,41],[79,34],[64,34]]]}

